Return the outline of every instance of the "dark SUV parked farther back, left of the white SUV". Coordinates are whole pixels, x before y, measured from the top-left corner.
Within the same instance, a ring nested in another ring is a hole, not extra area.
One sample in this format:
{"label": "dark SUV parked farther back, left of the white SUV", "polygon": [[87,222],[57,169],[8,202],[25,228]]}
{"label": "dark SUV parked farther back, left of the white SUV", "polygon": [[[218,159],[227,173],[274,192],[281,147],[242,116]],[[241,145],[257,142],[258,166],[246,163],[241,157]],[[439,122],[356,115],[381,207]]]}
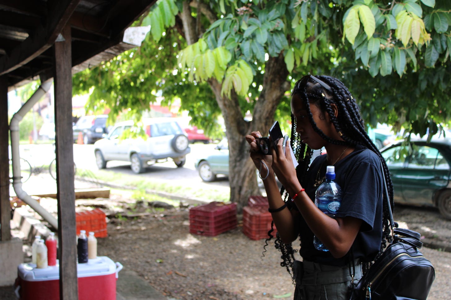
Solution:
{"label": "dark SUV parked farther back, left of the white SUV", "polygon": [[102,139],[103,135],[108,133],[109,128],[106,126],[107,119],[108,115],[80,117],[73,126],[74,143],[78,141],[80,132],[83,135],[84,144],[92,144]]}

